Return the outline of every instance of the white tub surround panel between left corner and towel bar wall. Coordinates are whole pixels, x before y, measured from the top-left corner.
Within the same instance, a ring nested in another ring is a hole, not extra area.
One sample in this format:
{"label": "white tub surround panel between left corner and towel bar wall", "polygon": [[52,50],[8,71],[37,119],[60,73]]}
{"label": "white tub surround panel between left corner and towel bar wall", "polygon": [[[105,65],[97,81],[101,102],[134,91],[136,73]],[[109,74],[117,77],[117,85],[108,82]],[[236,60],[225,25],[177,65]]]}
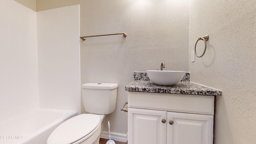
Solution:
{"label": "white tub surround panel between left corner and towel bar wall", "polygon": [[41,108],[81,112],[79,5],[37,12]]}

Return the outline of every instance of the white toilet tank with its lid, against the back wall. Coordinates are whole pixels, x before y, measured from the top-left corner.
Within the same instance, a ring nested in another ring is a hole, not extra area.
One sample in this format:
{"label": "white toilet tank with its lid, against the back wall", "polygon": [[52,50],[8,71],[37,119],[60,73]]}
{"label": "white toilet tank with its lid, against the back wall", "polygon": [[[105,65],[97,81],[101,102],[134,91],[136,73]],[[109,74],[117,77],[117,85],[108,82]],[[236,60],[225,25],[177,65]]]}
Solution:
{"label": "white toilet tank with its lid, against the back wall", "polygon": [[116,109],[118,84],[86,83],[82,84],[84,109],[92,114],[110,114]]}

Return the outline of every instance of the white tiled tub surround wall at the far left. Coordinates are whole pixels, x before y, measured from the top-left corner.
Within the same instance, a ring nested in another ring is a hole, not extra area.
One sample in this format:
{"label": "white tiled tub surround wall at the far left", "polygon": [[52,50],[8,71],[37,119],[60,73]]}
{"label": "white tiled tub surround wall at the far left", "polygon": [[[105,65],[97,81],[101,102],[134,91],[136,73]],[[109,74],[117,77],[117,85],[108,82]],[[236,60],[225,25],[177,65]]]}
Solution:
{"label": "white tiled tub surround wall at the far left", "polygon": [[39,106],[36,12],[0,0],[0,121]]}

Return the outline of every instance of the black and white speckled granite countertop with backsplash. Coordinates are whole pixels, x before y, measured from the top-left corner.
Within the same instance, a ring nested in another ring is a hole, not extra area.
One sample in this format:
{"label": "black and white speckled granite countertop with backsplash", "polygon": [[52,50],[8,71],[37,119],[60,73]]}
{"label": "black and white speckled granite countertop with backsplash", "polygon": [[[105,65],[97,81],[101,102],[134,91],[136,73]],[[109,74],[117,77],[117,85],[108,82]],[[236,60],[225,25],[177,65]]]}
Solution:
{"label": "black and white speckled granite countertop with backsplash", "polygon": [[[194,82],[190,82],[189,73],[186,73],[184,77],[186,80],[182,80],[173,86],[159,86],[154,84],[150,80],[144,80],[140,74],[144,72],[134,72],[134,81],[125,87],[126,91],[129,92],[156,92],[156,93],[169,93],[169,94],[194,94],[194,95],[204,95],[204,96],[221,96],[222,92],[220,90],[215,90],[207,86],[202,86]],[[136,77],[136,78],[135,78]]]}

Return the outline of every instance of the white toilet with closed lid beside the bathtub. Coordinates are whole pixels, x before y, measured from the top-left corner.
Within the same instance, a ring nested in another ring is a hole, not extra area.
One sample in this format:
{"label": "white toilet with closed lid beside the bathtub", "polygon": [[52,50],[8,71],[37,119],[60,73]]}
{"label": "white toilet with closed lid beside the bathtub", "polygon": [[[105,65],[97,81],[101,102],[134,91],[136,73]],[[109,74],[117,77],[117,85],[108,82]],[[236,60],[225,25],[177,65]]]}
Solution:
{"label": "white toilet with closed lid beside the bathtub", "polygon": [[82,84],[84,109],[80,114],[60,124],[46,144],[99,144],[102,120],[116,109],[118,84]]}

